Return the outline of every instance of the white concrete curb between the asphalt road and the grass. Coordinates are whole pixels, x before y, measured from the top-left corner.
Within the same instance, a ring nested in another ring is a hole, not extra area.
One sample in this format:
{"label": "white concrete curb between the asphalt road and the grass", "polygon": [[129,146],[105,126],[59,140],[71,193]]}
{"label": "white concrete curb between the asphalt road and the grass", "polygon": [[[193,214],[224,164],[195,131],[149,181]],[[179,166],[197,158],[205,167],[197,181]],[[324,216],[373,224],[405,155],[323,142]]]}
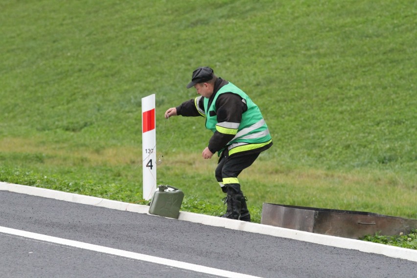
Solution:
{"label": "white concrete curb between the asphalt road and the grass", "polygon": [[[118,209],[137,213],[149,214],[149,207],[144,205],[129,204],[98,197],[79,195],[74,193],[56,191],[46,188],[27,185],[15,185],[0,182],[0,190],[22,193],[27,195],[45,197],[55,200],[85,204],[108,209]],[[290,230],[269,225],[249,223],[210,215],[181,211],[178,220],[200,223],[209,226],[223,227],[226,229],[255,232],[277,237],[290,238],[305,242],[317,243],[344,249],[358,250],[365,253],[386,255],[389,257],[406,259],[417,262],[417,250],[394,247],[379,243],[366,242],[356,239],[324,235],[311,232]]]}

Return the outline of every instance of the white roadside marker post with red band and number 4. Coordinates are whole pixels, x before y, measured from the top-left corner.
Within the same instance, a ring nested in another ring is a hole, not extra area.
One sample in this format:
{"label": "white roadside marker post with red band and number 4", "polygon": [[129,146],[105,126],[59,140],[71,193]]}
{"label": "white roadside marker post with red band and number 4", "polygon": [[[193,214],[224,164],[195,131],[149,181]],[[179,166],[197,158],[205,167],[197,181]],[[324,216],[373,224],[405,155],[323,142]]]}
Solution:
{"label": "white roadside marker post with red band and number 4", "polygon": [[155,94],[142,98],[143,199],[149,200],[156,190],[156,120]]}

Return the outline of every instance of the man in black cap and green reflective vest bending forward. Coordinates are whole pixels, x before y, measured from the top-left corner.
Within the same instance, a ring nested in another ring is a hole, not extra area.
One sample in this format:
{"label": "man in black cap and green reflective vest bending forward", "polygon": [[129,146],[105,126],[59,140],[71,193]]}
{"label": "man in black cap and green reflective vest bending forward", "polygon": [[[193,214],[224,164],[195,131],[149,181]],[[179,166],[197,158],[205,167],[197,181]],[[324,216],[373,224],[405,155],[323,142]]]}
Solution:
{"label": "man in black cap and green reflective vest bending forward", "polygon": [[220,157],[215,176],[223,192],[227,193],[224,198],[227,212],[222,217],[250,222],[247,199],[237,176],[252,165],[262,151],[272,146],[265,120],[246,93],[214,75],[209,67],[194,70],[186,87],[194,87],[200,96],[169,108],[165,118],[177,115],[206,117],[206,128],[213,136],[202,155],[204,159],[210,159],[217,152]]}

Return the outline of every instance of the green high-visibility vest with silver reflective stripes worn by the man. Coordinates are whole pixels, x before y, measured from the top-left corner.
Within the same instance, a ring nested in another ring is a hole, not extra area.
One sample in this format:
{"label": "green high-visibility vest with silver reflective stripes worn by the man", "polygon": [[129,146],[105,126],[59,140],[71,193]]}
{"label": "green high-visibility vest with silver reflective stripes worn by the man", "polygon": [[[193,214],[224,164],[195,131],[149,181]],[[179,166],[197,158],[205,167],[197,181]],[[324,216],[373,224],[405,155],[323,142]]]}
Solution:
{"label": "green high-visibility vest with silver reflective stripes worn by the man", "polygon": [[[248,110],[242,114],[242,121],[240,123],[217,122],[215,104],[217,98],[222,93],[238,94],[242,98],[242,101],[246,102]],[[229,82],[217,91],[210,106],[209,99],[206,97],[204,98],[203,103],[206,114],[206,128],[213,133],[218,131],[223,134],[234,135],[234,138],[228,142],[226,146],[229,149],[229,155],[261,148],[272,141],[268,126],[266,125],[259,108],[245,92],[232,83]],[[210,116],[210,111],[213,111],[213,113],[211,113],[212,116]],[[224,149],[225,148],[218,152],[219,156]]]}

